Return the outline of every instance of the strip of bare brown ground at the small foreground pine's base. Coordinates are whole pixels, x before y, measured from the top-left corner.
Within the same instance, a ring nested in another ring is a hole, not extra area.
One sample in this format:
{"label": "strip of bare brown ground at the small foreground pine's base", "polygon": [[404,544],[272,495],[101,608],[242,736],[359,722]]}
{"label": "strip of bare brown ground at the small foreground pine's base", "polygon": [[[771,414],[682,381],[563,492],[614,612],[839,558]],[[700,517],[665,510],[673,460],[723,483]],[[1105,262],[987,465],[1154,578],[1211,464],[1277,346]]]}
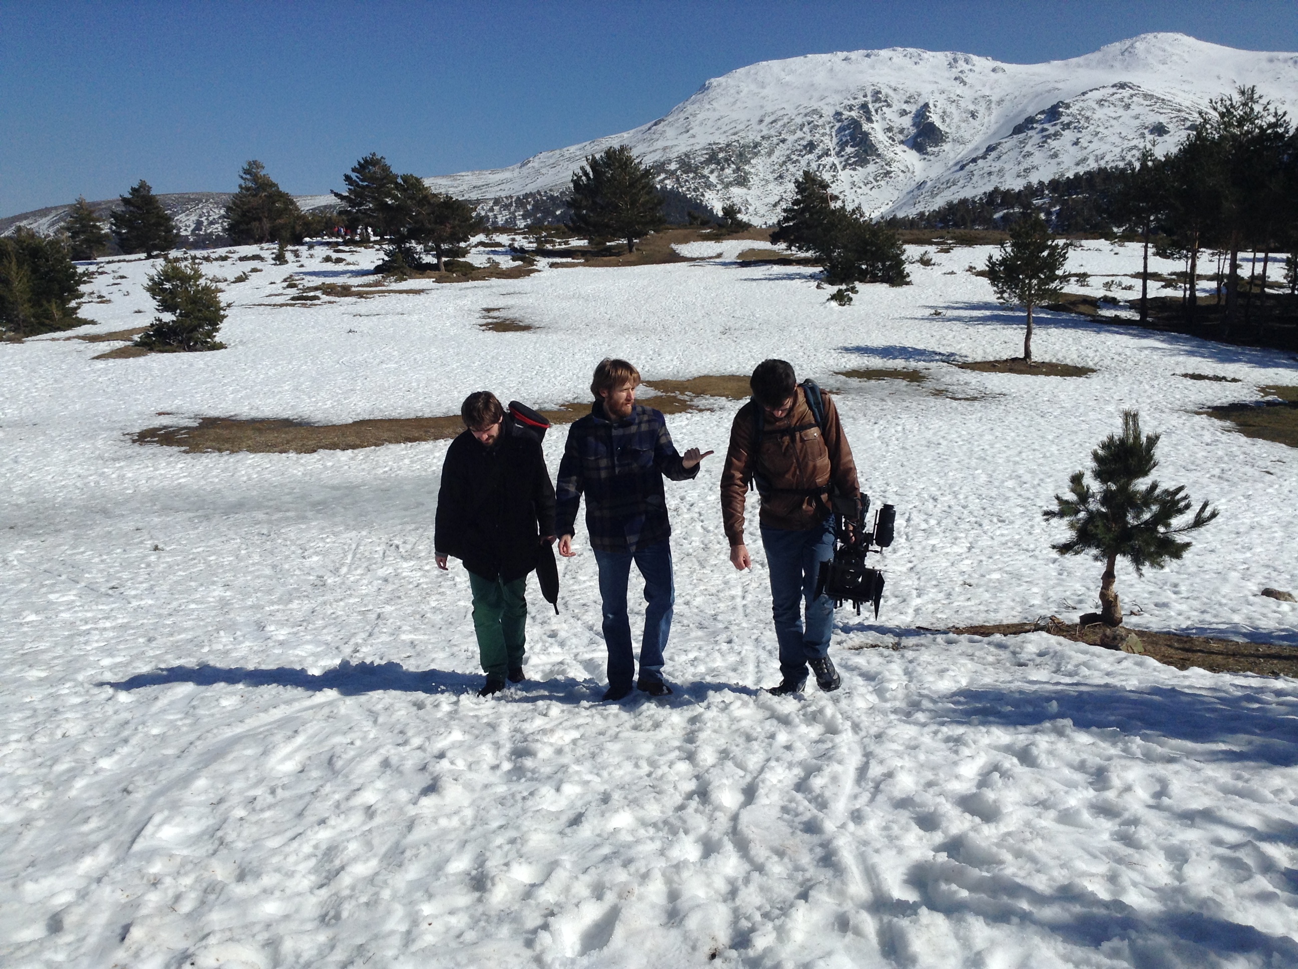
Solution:
{"label": "strip of bare brown ground at the small foreground pine's base", "polygon": [[[1099,643],[1101,625],[1079,627],[1051,616],[1049,623],[1002,623],[970,625],[949,632],[962,636],[1016,636],[1046,632],[1072,642]],[[1236,642],[1206,636],[1180,636],[1131,629],[1140,637],[1145,655],[1177,669],[1198,667],[1210,673],[1260,673],[1262,676],[1298,676],[1298,650],[1256,642]]]}

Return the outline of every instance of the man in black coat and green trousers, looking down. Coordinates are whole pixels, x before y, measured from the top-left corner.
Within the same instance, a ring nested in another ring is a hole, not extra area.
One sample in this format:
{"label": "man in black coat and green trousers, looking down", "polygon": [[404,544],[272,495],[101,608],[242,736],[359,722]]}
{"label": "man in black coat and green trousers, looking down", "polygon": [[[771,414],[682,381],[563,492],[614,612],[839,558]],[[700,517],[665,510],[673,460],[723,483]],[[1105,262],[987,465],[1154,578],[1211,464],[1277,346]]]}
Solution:
{"label": "man in black coat and green trousers, looking down", "polygon": [[437,493],[437,568],[454,555],[469,571],[474,630],[487,684],[479,697],[523,680],[527,573],[541,541],[554,541],[554,485],[540,441],[496,396],[465,398],[465,431],[447,450]]}

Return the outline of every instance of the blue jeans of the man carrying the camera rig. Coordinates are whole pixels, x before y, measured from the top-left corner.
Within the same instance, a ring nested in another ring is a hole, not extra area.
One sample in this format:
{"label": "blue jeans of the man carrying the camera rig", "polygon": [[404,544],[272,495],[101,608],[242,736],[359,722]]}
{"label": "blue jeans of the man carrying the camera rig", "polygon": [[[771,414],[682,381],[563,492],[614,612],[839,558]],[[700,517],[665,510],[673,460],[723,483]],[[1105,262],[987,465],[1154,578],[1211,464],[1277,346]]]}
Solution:
{"label": "blue jeans of the man carrying the camera rig", "polygon": [[763,528],[762,545],[771,569],[771,614],[780,643],[780,672],[787,680],[802,681],[807,678],[807,660],[829,652],[833,599],[815,598],[815,584],[820,563],[833,556],[833,519],[805,532]]}

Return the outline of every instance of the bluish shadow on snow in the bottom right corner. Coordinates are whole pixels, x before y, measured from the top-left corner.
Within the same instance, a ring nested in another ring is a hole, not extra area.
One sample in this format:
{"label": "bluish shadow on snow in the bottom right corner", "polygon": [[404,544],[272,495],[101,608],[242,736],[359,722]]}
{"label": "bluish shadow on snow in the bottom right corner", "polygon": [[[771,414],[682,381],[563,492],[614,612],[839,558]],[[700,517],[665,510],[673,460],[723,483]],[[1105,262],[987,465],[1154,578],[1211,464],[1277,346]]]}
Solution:
{"label": "bluish shadow on snow in the bottom right corner", "polygon": [[[1293,891],[1289,872],[1276,868],[1263,877]],[[1298,964],[1298,942],[1292,938],[1268,935],[1202,912],[1142,915],[1124,902],[1101,898],[1081,886],[1046,894],[1005,874],[989,874],[948,859],[912,865],[906,879],[919,891],[922,904],[936,912],[1035,925],[1068,944],[1092,950],[1116,943],[1127,948],[1127,957],[1136,965],[1216,965],[1221,959],[1245,953],[1260,956],[1266,965]]]}

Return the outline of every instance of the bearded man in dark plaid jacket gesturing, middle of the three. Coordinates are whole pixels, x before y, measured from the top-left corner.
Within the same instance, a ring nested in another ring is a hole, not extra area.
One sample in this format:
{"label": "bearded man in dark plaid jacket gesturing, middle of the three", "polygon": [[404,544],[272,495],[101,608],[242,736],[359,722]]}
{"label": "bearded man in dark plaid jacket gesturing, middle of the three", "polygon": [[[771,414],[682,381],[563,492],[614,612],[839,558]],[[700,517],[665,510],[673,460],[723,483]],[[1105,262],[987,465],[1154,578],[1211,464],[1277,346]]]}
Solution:
{"label": "bearded man in dark plaid jacket gesturing, middle of the three", "polygon": [[635,652],[627,616],[627,581],[635,562],[645,580],[645,632],[640,645],[640,680],[652,697],[666,697],[662,651],[671,632],[676,599],[671,577],[671,524],[662,479],[698,475],[711,451],[676,453],[662,413],[636,403],[640,371],[626,361],[605,359],[594,368],[591,413],[572,424],[563,448],[556,489],[559,555],[572,556],[576,510],[585,492],[585,527],[600,568],[604,643],[609,650],[606,700],[631,694]]}

